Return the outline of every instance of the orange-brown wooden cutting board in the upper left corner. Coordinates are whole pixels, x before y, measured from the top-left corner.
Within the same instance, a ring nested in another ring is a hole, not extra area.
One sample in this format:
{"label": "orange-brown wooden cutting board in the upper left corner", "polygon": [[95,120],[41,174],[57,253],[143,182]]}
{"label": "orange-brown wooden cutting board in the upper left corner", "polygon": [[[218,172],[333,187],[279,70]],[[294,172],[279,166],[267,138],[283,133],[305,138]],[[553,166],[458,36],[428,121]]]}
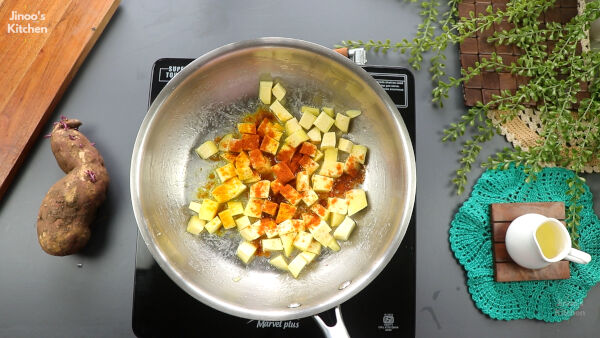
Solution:
{"label": "orange-brown wooden cutting board in the upper left corner", "polygon": [[0,199],[120,0],[0,0]]}

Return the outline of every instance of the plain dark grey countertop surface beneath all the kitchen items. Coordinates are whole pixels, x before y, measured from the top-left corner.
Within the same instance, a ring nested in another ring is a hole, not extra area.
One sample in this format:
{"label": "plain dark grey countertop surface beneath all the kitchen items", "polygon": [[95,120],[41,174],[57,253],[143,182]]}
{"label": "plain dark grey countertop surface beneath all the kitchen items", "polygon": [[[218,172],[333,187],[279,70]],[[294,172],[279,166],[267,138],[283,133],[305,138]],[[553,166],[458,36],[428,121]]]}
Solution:
{"label": "plain dark grey countertop surface beneath all the kitchen items", "polygon": [[[129,195],[129,165],[148,102],[150,69],[163,57],[196,57],[221,45],[285,36],[333,46],[343,39],[412,38],[419,8],[399,0],[142,1],[123,0],[54,111],[84,121],[111,173],[102,226],[80,254],[57,258],[37,243],[35,221],[48,188],[62,177],[47,140],[37,141],[0,202],[0,336],[129,337],[136,223]],[[457,53],[447,63],[458,71]],[[369,64],[406,66],[397,54],[368,54]],[[466,290],[464,270],[448,244],[449,223],[469,189],[456,196],[449,181],[460,144],[441,143],[441,131],[465,108],[451,92],[443,109],[430,103],[426,71],[415,72],[417,93],[418,337],[530,337],[597,335],[600,290],[580,311],[548,324],[489,319]],[[50,124],[45,130],[50,129]],[[44,133],[45,134],[45,133]],[[486,151],[506,146],[496,137]],[[487,153],[486,153],[487,154]],[[486,155],[484,154],[484,155]],[[481,170],[474,170],[474,180]],[[600,179],[589,177],[592,192]],[[595,199],[596,205],[598,200]],[[435,209],[433,209],[435,206]],[[599,210],[596,207],[596,210]],[[81,264],[81,266],[78,266]],[[401,290],[399,290],[401,292]]]}

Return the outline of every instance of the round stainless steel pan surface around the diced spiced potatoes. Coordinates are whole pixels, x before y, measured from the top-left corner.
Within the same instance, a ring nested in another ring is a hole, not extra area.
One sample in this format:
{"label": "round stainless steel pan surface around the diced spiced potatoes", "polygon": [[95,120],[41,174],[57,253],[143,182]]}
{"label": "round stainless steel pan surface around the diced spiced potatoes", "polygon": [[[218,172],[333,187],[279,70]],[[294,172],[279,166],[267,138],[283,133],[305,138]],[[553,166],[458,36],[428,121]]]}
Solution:
{"label": "round stainless steel pan surface around the diced spiced potatoes", "polygon": [[[369,147],[363,185],[368,210],[356,217],[358,228],[341,251],[322,254],[298,279],[263,259],[245,266],[235,256],[240,238],[234,231],[200,238],[185,232],[187,205],[216,166],[193,149],[252,112],[258,81],[266,76],[288,89],[285,105],[292,112],[307,103],[361,109],[349,138]],[[411,216],[415,160],[400,114],[365,71],[313,43],[262,38],[218,48],[167,84],[137,135],[130,184],[140,233],[182,289],[235,316],[289,320],[339,305],[385,267]]]}

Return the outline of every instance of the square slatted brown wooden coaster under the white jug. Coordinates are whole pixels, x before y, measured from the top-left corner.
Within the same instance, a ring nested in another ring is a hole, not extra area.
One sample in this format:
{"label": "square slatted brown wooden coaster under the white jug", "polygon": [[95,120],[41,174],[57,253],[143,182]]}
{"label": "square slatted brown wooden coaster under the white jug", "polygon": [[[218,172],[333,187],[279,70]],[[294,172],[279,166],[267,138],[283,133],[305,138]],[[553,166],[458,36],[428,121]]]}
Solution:
{"label": "square slatted brown wooden coaster under the white jug", "polygon": [[518,282],[570,278],[571,270],[567,261],[551,263],[543,269],[531,270],[517,265],[508,255],[504,243],[506,229],[515,218],[528,213],[556,218],[565,224],[565,204],[563,202],[492,204],[490,206],[490,223],[494,251],[494,279],[496,282]]}

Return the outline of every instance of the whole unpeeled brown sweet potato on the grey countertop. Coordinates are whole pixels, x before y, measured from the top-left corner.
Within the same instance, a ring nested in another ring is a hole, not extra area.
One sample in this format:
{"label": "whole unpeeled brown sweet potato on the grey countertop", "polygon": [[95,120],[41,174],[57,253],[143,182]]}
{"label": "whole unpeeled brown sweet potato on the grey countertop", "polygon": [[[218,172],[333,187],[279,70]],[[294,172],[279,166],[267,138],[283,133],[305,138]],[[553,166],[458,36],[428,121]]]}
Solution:
{"label": "whole unpeeled brown sweet potato on the grey countertop", "polygon": [[88,242],[98,207],[106,198],[109,177],[104,160],[78,128],[79,120],[61,117],[50,134],[56,162],[67,174],[48,191],[37,220],[44,251],[55,256],[78,252]]}

